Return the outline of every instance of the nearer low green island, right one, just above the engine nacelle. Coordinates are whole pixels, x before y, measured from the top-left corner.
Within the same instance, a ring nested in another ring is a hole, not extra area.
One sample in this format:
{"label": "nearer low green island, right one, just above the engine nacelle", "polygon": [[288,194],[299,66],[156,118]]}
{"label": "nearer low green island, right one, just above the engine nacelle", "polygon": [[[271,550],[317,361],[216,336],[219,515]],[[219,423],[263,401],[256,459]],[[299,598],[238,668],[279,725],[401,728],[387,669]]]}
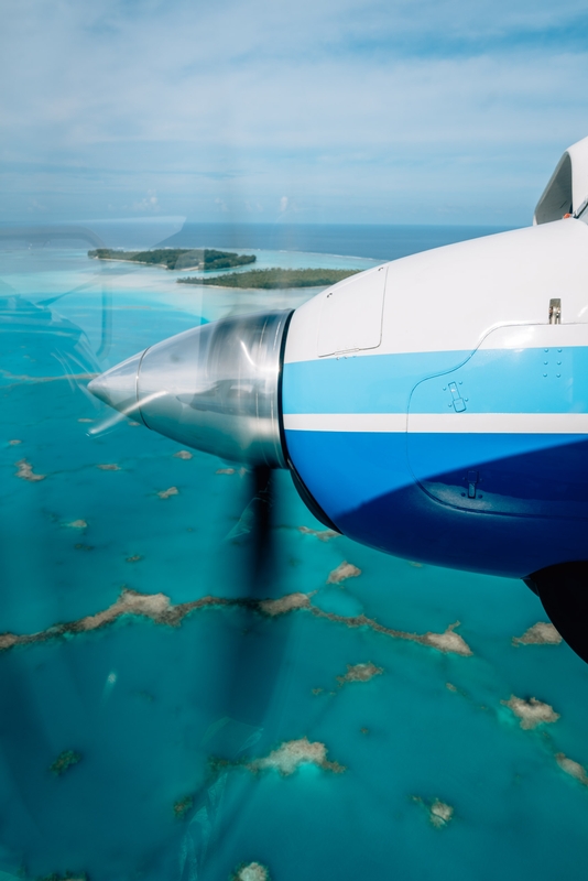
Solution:
{"label": "nearer low green island, right one, just above the engine nacelle", "polygon": [[216,287],[247,287],[273,291],[284,287],[329,287],[331,284],[356,275],[358,269],[253,269],[231,272],[221,278],[205,279],[188,275],[177,279],[182,284],[213,284]]}

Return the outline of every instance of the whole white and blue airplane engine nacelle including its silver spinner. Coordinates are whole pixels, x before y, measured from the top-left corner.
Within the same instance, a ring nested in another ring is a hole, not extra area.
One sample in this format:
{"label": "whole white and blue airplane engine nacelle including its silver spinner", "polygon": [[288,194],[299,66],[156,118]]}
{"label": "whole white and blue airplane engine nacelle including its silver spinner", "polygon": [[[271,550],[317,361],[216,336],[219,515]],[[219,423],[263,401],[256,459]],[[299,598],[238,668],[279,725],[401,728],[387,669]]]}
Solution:
{"label": "whole white and blue airplane engine nacelle including its silver spinner", "polygon": [[188,330],[89,389],[183,444],[290,468],[358,542],[526,579],[588,660],[587,188],[588,139],[533,227]]}

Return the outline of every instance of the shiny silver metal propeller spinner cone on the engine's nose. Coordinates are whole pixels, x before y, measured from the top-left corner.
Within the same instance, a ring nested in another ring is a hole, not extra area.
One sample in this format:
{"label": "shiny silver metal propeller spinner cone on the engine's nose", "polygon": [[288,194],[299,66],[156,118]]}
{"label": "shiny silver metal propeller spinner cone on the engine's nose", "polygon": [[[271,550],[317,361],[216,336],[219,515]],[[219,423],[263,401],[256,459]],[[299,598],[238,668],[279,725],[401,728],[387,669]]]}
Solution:
{"label": "shiny silver metal propeller spinner cone on the engine's nose", "polygon": [[284,468],[280,385],[291,315],[240,315],[195,327],[113,367],[88,389],[195,449]]}

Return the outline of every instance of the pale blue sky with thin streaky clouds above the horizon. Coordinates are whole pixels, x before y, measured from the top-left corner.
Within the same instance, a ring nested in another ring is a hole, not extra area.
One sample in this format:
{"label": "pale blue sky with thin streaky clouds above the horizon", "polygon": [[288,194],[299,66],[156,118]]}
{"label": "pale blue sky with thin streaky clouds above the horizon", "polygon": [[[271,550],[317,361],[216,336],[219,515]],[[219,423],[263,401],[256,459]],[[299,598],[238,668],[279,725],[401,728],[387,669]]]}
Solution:
{"label": "pale blue sky with thin streaky clouds above the horizon", "polygon": [[524,226],[587,81],[579,0],[9,0],[0,221]]}

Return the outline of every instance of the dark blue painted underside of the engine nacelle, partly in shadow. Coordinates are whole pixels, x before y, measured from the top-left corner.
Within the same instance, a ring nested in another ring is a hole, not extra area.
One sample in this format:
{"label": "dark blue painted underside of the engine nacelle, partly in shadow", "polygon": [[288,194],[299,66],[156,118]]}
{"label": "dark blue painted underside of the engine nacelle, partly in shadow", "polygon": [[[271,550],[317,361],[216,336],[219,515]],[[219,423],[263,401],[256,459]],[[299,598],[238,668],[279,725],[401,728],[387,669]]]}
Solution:
{"label": "dark blue painted underside of the engine nacelle, partly in shadow", "polygon": [[[444,460],[449,442],[457,440],[462,455],[461,466],[456,458],[450,470],[429,469],[420,483],[409,467],[406,440],[404,434],[286,432],[308,490],[358,542],[436,565],[513,577],[586,557],[586,439],[417,435],[411,443],[422,445],[429,464]],[[470,470],[479,472],[471,499]]]}

